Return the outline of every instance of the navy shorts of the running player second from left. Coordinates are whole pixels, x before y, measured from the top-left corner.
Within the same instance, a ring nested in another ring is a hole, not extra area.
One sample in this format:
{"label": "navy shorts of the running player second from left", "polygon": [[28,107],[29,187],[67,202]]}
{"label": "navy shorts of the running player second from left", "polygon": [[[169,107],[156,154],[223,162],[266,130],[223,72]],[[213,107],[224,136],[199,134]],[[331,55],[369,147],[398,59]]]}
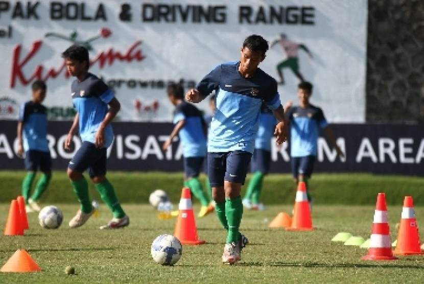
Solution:
{"label": "navy shorts of the running player second from left", "polygon": [[68,168],[80,173],[88,169],[90,178],[106,175],[106,148],[97,148],[94,144],[83,141],[75,153]]}

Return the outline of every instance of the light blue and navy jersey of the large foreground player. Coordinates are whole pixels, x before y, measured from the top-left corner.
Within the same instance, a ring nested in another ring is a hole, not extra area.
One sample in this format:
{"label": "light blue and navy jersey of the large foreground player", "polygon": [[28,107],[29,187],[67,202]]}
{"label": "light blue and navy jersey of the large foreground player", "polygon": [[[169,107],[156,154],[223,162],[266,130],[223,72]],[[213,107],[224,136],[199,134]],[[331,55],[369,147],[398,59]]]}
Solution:
{"label": "light blue and navy jersey of the large foreground player", "polygon": [[240,62],[218,65],[197,85],[203,96],[215,90],[215,115],[210,123],[208,152],[253,153],[261,104],[272,110],[280,106],[275,79],[260,68],[251,78],[240,75]]}

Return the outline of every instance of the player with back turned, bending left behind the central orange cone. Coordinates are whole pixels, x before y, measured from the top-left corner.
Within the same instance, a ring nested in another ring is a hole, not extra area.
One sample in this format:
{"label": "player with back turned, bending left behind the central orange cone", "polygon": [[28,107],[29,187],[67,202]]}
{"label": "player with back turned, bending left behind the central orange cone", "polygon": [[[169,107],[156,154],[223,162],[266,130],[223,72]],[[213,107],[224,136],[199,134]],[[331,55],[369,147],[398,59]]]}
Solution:
{"label": "player with back turned, bending left behind the central orange cone", "polygon": [[199,199],[201,208],[199,217],[213,211],[209,208],[209,200],[203,192],[199,181],[200,170],[206,156],[207,126],[200,110],[184,101],[184,89],[180,84],[167,87],[168,99],[175,106],[175,127],[168,139],[163,143],[163,151],[167,151],[175,136],[179,135],[184,156],[184,186],[189,187],[192,194]]}

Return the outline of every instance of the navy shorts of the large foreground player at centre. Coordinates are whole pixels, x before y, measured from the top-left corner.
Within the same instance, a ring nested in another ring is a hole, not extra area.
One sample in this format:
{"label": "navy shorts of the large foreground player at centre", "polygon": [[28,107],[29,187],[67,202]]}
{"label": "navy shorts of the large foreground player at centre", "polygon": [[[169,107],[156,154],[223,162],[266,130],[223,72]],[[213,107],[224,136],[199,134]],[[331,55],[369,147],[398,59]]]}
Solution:
{"label": "navy shorts of the large foreground player at centre", "polygon": [[244,184],[251,157],[246,151],[207,153],[210,186],[223,186],[224,180]]}

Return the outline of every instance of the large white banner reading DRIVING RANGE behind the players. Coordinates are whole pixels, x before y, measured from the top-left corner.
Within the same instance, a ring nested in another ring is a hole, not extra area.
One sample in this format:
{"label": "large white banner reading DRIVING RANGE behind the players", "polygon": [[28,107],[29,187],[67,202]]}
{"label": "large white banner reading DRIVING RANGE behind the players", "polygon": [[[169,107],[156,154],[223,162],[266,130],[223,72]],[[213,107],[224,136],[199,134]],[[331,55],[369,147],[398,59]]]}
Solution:
{"label": "large white banner reading DRIVING RANGE behind the players", "polygon": [[17,119],[35,79],[48,84],[51,119],[73,117],[74,78],[61,58],[73,43],[87,46],[90,72],[114,89],[119,120],[169,122],[169,82],[192,88],[217,64],[238,61],[248,35],[271,43],[284,34],[260,65],[278,81],[280,66],[281,101],[296,103],[304,78],[330,122],[362,123],[366,24],[366,0],[0,1],[0,119]]}

